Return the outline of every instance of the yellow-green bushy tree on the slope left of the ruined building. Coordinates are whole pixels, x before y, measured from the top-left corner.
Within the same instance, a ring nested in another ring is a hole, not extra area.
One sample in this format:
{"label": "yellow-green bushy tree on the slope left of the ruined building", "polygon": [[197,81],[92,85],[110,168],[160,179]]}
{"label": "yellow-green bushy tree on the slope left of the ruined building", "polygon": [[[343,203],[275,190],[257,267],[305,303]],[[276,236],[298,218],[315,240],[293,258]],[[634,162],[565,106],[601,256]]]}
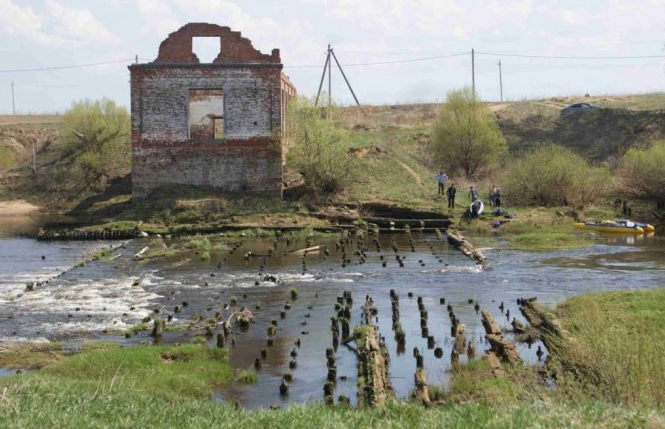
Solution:
{"label": "yellow-green bushy tree on the slope left of the ruined building", "polygon": [[63,115],[60,144],[70,180],[103,185],[131,168],[129,113],[106,98],[75,102]]}

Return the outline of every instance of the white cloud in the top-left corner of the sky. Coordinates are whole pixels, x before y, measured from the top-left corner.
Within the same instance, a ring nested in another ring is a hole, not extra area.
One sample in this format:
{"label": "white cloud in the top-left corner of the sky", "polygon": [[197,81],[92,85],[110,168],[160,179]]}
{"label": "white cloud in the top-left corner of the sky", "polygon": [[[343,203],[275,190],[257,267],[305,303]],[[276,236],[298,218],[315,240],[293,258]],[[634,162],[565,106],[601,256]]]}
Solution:
{"label": "white cloud in the top-left corner of the sky", "polygon": [[0,0],[0,34],[22,37],[50,48],[118,41],[89,9],[66,8],[53,0],[47,0],[40,13],[12,0]]}

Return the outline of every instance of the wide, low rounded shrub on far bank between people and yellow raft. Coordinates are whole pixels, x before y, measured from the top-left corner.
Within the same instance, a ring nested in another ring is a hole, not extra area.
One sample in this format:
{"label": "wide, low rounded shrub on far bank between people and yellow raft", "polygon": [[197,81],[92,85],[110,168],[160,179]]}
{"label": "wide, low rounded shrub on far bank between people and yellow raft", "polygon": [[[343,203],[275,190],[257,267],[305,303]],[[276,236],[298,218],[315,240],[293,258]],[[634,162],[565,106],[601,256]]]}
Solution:
{"label": "wide, low rounded shrub on far bank between people and yellow raft", "polygon": [[519,205],[585,205],[608,186],[609,171],[591,167],[570,149],[536,148],[508,168],[505,195]]}

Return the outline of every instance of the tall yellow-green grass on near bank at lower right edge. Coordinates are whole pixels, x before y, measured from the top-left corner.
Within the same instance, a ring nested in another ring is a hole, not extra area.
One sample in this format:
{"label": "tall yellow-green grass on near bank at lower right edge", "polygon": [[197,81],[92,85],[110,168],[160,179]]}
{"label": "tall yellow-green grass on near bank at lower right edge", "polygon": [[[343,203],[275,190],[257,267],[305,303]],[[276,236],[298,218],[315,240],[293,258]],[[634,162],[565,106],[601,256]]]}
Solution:
{"label": "tall yellow-green grass on near bank at lower right edge", "polygon": [[556,314],[572,338],[551,339],[562,395],[665,405],[665,289],[581,295]]}

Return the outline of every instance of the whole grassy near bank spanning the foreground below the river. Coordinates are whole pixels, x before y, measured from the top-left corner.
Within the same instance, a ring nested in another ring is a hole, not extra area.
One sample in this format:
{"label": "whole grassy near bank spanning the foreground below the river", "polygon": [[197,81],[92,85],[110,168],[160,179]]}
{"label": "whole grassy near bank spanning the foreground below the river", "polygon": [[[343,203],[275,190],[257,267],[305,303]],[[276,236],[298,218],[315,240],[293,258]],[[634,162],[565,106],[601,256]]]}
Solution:
{"label": "whole grassy near bank spanning the foreground below the river", "polygon": [[[433,387],[440,403],[430,408],[397,400],[382,410],[317,403],[237,410],[210,399],[234,378],[220,349],[93,343],[65,356],[48,346],[33,371],[0,379],[0,427],[659,428],[663,308],[665,290],[571,298],[556,309],[567,333],[551,350],[557,389],[527,366],[496,379],[479,359],[458,367],[447,391]],[[255,375],[235,379],[251,383]]]}

